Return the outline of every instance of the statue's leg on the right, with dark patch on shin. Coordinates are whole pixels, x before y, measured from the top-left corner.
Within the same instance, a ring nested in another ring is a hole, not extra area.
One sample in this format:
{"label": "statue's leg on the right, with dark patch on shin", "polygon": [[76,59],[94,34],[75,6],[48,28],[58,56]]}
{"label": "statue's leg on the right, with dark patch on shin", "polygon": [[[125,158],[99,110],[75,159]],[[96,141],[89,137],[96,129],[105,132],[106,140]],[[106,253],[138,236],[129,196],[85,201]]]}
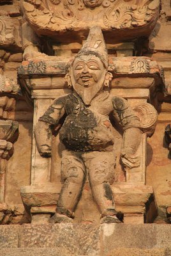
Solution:
{"label": "statue's leg on the right, with dark patch on shin", "polygon": [[89,173],[94,200],[101,212],[101,223],[120,223],[116,217],[114,197],[110,188],[110,183],[114,179],[115,158],[113,152],[91,152],[85,158],[87,158],[85,165]]}

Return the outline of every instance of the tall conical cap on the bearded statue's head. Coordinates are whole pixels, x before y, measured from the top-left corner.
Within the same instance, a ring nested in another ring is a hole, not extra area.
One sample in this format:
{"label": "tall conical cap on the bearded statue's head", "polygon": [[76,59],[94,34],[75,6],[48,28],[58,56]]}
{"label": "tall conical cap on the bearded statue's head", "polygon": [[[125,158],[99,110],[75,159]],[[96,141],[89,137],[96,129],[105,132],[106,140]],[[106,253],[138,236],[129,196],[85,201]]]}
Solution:
{"label": "tall conical cap on the bearded statue's head", "polygon": [[90,29],[87,40],[76,57],[80,55],[95,55],[100,58],[105,68],[108,67],[107,47],[100,27],[94,26]]}

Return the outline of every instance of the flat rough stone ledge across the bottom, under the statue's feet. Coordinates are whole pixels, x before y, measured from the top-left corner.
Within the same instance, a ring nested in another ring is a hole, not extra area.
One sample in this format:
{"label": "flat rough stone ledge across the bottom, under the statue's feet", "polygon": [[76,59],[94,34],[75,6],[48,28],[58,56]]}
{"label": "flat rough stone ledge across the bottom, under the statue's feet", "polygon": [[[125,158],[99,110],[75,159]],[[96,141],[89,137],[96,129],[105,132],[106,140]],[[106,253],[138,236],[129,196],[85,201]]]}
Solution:
{"label": "flat rough stone ledge across the bottom, under the statue's feet", "polygon": [[0,255],[171,256],[171,225],[1,225]]}

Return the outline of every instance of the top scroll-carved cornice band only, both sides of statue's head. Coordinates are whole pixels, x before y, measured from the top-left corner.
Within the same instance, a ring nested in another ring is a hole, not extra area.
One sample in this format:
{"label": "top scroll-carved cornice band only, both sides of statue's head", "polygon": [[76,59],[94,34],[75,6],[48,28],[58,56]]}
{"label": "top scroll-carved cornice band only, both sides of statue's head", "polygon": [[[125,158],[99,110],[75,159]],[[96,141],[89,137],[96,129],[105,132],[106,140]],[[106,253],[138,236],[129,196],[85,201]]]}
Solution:
{"label": "top scroll-carved cornice band only, both sides of statue's head", "polygon": [[[71,58],[61,60],[56,56],[22,61],[22,65],[18,70],[19,79],[48,76],[64,77],[68,70],[68,63],[71,61]],[[158,77],[161,81],[164,81],[163,69],[156,61],[148,57],[109,57],[108,71],[112,72],[114,78],[121,76]]]}

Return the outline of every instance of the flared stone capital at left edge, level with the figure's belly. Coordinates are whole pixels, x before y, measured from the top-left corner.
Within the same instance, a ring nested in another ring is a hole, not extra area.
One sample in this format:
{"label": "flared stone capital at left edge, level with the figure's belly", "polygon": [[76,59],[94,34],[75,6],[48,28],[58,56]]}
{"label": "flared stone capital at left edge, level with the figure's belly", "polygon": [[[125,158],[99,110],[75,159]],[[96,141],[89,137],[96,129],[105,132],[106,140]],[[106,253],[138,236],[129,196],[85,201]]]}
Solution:
{"label": "flared stone capital at left edge, level with the figure's belly", "polygon": [[19,123],[11,120],[0,120],[0,140],[13,142],[17,136]]}

